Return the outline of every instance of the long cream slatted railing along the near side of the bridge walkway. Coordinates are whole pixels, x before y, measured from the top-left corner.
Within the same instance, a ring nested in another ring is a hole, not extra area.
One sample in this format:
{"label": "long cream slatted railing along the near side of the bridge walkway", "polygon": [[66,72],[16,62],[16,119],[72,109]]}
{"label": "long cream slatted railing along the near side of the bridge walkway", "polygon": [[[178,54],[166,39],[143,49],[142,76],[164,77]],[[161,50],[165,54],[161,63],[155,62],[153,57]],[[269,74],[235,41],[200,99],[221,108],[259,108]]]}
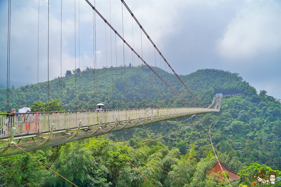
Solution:
{"label": "long cream slatted railing along the near side of the bridge walkway", "polygon": [[[82,127],[94,126],[102,118],[103,124],[110,124],[118,117],[118,122],[136,120],[152,117],[152,116],[164,116],[166,113],[167,117],[215,112],[217,110],[211,108],[136,108],[136,109],[111,109],[111,110],[87,110],[87,111],[60,111],[61,113],[46,113],[42,112],[40,115],[34,115],[36,113],[23,113],[23,116],[6,117],[0,116],[0,137],[9,137],[11,128],[16,128],[16,133],[19,135],[30,135],[46,132],[50,129],[52,123],[55,124],[56,130],[67,130],[73,129],[77,126],[79,121],[82,121]],[[184,113],[184,114],[183,114]],[[15,114],[15,113],[14,113]],[[20,114],[20,113],[16,113]],[[26,116],[28,114],[29,116]],[[48,115],[47,115],[48,114]],[[7,121],[7,119],[9,121]],[[112,124],[113,125],[113,124]],[[1,138],[0,138],[1,139]]]}

